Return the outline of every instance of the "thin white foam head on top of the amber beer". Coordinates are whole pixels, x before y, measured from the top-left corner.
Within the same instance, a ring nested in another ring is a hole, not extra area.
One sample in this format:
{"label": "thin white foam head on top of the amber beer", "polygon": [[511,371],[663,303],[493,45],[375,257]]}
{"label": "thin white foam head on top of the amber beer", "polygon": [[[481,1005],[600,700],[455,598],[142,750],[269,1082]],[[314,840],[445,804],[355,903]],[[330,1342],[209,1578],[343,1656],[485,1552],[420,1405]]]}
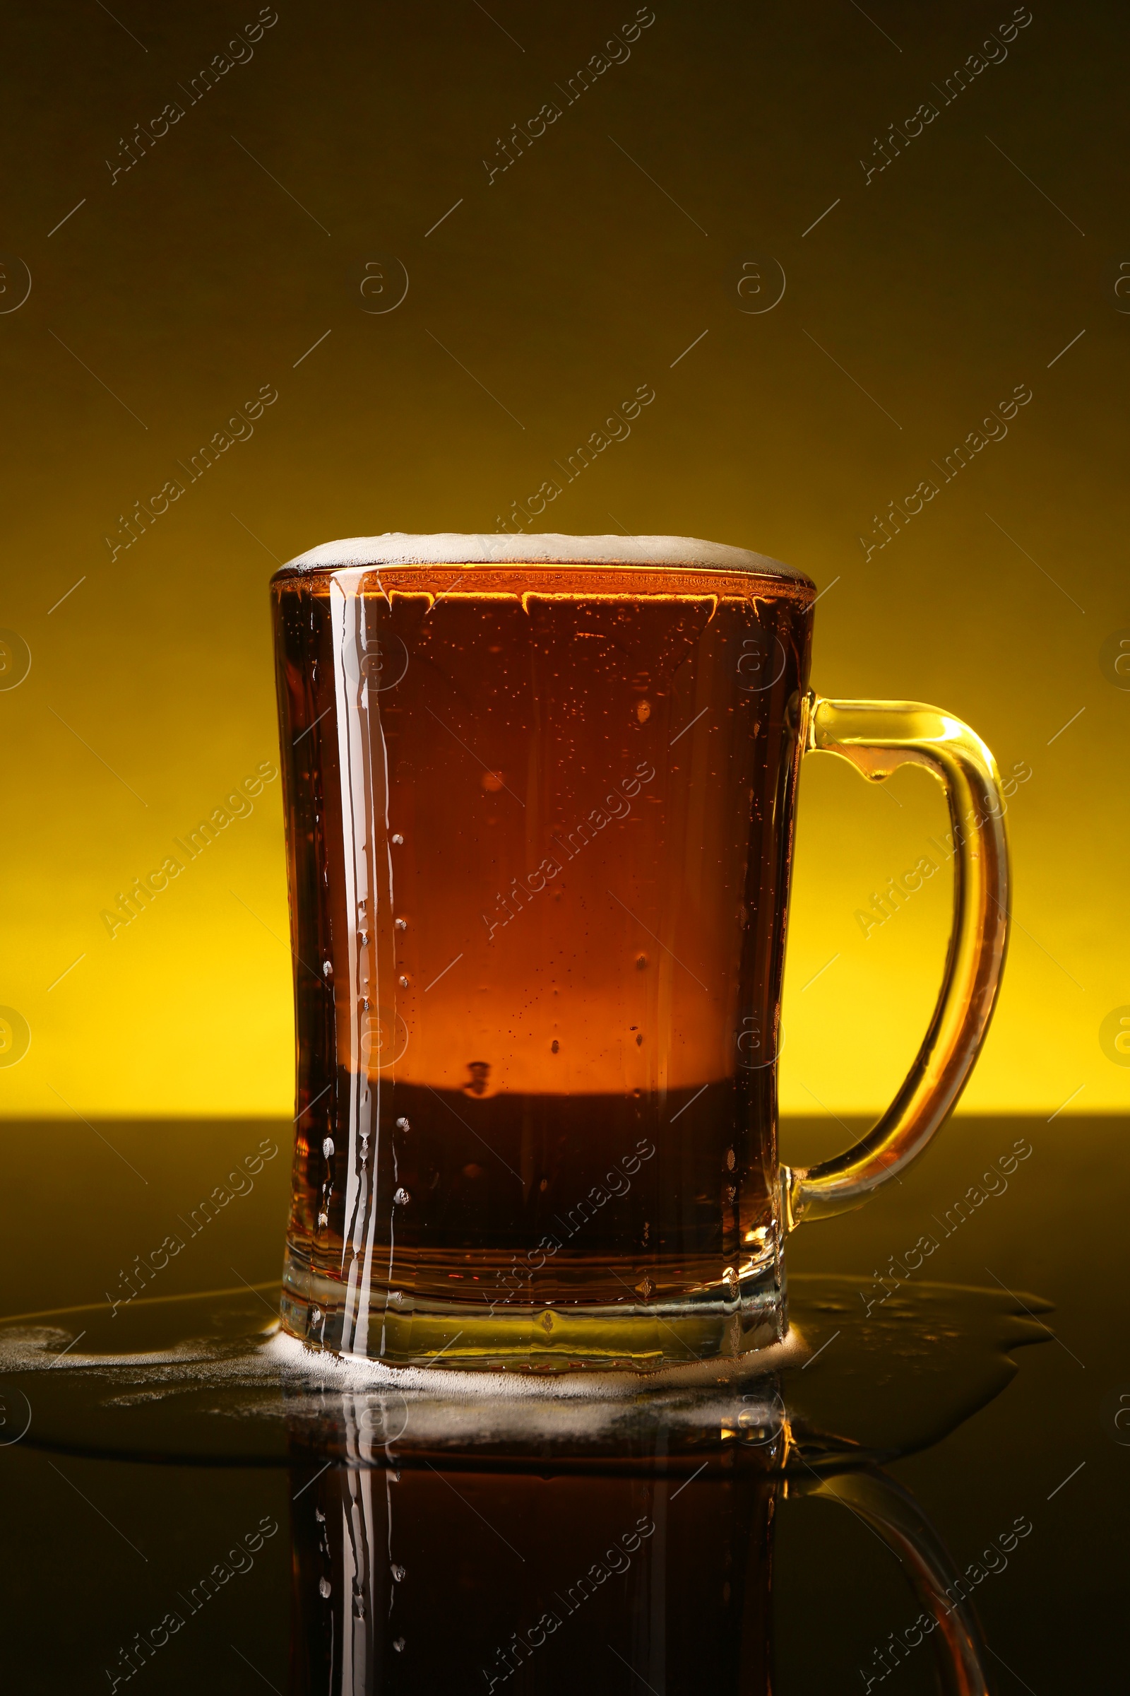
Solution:
{"label": "thin white foam head on top of the amber beer", "polygon": [[698,572],[734,572],[744,577],[779,577],[793,583],[810,578],[791,565],[749,548],[730,548],[696,536],[346,536],[324,541],[288,560],[283,572],[335,572],[381,565],[613,565],[683,566]]}

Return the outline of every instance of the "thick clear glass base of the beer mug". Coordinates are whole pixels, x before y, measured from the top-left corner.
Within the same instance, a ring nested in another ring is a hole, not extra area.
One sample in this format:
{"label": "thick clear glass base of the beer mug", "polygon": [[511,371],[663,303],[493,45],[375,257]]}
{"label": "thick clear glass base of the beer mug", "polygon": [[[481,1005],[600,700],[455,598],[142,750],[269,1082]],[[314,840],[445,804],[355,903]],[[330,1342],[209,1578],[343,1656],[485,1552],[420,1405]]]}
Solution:
{"label": "thick clear glass base of the beer mug", "polygon": [[479,1372],[659,1372],[783,1342],[788,1301],[774,1257],[740,1280],[735,1297],[705,1291],[630,1306],[488,1306],[371,1287],[368,1309],[349,1318],[344,1286],[288,1253],[281,1321],[307,1348],[391,1367],[442,1358],[444,1367]]}

